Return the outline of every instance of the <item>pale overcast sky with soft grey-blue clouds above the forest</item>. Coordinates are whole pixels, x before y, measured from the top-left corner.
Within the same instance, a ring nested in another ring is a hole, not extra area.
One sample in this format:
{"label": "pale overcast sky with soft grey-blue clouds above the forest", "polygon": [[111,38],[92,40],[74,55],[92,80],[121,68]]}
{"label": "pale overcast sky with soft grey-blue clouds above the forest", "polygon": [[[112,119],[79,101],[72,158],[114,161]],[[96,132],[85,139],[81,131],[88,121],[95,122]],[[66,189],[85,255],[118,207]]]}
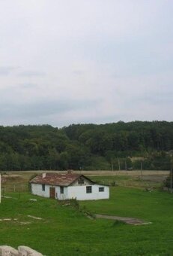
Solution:
{"label": "pale overcast sky with soft grey-blue clouds above the forest", "polygon": [[0,125],[173,120],[172,0],[0,0]]}

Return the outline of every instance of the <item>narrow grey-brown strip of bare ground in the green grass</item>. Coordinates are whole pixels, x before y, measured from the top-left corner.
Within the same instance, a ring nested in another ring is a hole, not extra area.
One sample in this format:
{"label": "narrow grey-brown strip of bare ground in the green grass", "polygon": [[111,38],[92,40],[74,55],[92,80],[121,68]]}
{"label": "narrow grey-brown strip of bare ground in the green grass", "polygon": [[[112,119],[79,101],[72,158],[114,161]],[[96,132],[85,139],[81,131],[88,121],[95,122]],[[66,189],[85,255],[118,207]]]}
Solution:
{"label": "narrow grey-brown strip of bare ground in the green grass", "polygon": [[146,224],[151,224],[151,222],[146,222],[139,220],[139,218],[126,218],[126,217],[120,217],[120,216],[109,216],[109,215],[95,215],[96,218],[106,218],[109,220],[115,220],[115,221],[123,221],[127,224],[132,224],[132,225],[146,225]]}

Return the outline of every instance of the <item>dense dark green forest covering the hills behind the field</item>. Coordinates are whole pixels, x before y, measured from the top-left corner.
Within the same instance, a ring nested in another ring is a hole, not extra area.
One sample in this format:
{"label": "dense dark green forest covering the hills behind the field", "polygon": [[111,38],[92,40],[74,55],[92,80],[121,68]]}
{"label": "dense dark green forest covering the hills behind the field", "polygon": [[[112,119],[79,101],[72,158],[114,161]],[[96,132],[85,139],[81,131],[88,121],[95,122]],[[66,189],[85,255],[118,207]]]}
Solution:
{"label": "dense dark green forest covering the hills behind the field", "polygon": [[0,170],[170,169],[173,122],[0,126]]}

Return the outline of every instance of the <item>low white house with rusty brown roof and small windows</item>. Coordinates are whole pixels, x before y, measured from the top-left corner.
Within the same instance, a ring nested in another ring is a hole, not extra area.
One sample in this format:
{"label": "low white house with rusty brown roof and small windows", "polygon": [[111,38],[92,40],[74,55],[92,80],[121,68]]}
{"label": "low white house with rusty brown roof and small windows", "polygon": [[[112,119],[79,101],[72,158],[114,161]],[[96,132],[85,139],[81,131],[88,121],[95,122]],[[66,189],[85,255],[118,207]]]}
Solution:
{"label": "low white house with rusty brown roof and small windows", "polygon": [[84,175],[75,173],[43,173],[30,181],[31,193],[58,200],[109,199],[109,185],[97,184]]}

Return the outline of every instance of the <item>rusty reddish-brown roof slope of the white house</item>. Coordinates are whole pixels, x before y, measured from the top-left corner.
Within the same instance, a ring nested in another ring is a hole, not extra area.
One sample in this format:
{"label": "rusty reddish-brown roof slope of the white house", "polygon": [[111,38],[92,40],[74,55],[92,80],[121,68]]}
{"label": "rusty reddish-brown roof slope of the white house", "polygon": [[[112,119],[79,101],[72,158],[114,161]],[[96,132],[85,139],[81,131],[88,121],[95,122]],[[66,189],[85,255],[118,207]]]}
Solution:
{"label": "rusty reddish-brown roof slope of the white house", "polygon": [[[82,175],[75,173],[45,173],[45,176],[37,175],[31,179],[30,183],[34,184],[49,184],[49,185],[58,185],[58,186],[69,186],[73,181],[76,181]],[[43,178],[44,177],[44,178]]]}

